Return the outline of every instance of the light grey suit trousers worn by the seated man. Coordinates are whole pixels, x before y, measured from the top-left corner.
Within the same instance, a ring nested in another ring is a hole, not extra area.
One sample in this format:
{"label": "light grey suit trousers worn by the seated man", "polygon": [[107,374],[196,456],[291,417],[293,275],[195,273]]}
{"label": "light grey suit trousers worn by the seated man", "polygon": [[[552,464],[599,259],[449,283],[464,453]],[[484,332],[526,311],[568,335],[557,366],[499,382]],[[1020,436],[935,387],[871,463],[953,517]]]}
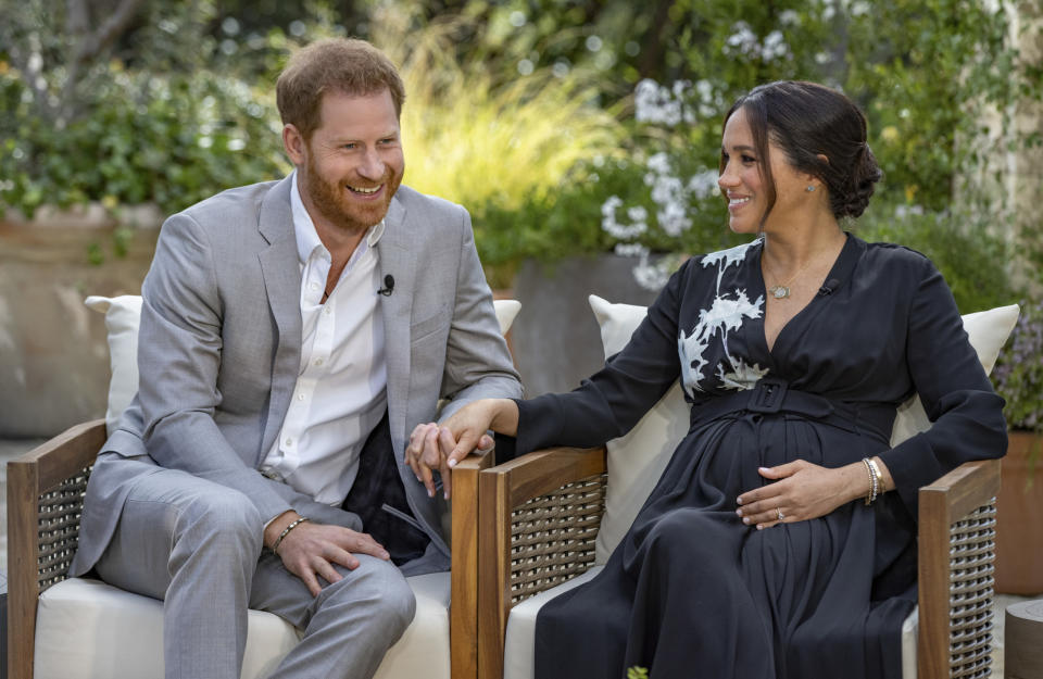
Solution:
{"label": "light grey suit trousers worn by the seated man", "polygon": [[[167,679],[239,679],[248,606],[303,630],[272,675],[279,679],[372,677],[412,621],[413,592],[390,562],[356,555],[355,570],[338,567],[343,579],[313,598],[277,555],[262,549],[264,521],[246,495],[148,457],[109,455],[99,457],[96,473],[112,464],[120,471],[126,465],[147,468],[138,470],[96,568],[106,582],[164,601]],[[361,528],[355,515],[337,507],[312,518]]]}

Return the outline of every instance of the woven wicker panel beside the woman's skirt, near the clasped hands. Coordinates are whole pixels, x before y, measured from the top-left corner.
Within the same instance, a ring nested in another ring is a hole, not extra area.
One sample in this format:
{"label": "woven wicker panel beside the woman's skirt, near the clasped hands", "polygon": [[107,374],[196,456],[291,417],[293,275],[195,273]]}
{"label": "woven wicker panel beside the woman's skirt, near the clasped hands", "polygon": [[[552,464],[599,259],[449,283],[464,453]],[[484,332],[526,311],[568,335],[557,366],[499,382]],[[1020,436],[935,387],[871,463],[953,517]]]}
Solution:
{"label": "woven wicker panel beside the woman's skirt, near the clasped hands", "polygon": [[566,483],[511,513],[511,603],[586,573],[605,511],[607,475]]}

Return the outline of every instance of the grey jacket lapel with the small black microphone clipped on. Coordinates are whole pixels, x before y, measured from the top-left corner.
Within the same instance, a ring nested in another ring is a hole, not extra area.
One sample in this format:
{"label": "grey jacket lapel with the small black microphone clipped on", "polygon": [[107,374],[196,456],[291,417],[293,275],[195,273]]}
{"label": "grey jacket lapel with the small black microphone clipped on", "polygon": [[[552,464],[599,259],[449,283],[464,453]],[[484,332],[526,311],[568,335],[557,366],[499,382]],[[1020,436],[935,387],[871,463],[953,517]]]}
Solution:
{"label": "grey jacket lapel with the small black microphone clipped on", "polygon": [[394,292],[380,297],[380,307],[388,361],[388,417],[391,440],[398,454],[402,454],[398,449],[405,439],[410,388],[410,318],[413,313],[413,284],[416,277],[415,248],[410,248],[405,212],[400,200],[391,201],[384,222],[384,236],[377,242],[377,251],[380,253],[380,280],[384,281],[387,276],[394,278]]}

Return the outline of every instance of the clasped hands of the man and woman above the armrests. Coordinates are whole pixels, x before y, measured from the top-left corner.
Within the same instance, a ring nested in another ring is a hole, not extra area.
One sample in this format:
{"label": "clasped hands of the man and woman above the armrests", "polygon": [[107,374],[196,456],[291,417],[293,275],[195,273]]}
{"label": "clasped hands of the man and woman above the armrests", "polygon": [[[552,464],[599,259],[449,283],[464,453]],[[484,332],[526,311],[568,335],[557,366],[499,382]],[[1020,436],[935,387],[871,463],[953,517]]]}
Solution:
{"label": "clasped hands of the man and woman above the armrests", "polygon": [[489,430],[515,436],[518,429],[518,406],[511,399],[482,399],[468,403],[441,426],[417,425],[405,448],[405,463],[416,479],[435,496],[433,471],[442,477],[445,499],[452,496],[452,468],[475,449],[492,448]]}

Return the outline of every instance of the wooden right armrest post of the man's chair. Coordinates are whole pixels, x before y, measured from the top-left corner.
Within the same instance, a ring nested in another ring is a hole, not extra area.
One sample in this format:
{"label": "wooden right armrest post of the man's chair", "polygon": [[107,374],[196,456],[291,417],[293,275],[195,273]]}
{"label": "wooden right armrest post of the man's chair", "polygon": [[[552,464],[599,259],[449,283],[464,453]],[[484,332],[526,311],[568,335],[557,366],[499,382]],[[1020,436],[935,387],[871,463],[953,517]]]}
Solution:
{"label": "wooden right armrest post of the man's chair", "polygon": [[478,474],[495,464],[495,454],[468,455],[453,469],[449,606],[450,675],[478,676]]}

